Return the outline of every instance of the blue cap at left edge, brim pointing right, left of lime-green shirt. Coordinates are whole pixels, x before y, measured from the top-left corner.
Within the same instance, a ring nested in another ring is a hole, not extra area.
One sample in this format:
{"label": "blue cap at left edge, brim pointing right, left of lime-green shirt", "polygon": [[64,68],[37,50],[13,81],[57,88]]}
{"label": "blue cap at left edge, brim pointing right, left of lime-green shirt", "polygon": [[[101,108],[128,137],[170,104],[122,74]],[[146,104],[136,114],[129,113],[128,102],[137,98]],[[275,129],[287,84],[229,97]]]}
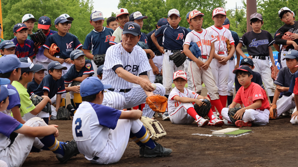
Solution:
{"label": "blue cap at left edge, brim pointing right, left of lime-green shirt", "polygon": [[0,73],[7,73],[16,68],[30,67],[31,63],[21,62],[16,55],[4,55],[0,57]]}

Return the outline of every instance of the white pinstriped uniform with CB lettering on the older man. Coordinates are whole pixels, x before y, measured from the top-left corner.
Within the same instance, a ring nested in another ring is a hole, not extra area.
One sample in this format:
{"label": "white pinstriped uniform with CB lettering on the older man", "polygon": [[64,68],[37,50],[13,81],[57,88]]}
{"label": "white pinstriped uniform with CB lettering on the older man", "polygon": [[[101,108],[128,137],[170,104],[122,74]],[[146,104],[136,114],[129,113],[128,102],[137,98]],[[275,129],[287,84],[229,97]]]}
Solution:
{"label": "white pinstriped uniform with CB lettering on the older man", "polygon": [[[145,51],[135,46],[131,53],[124,50],[121,43],[111,46],[105,56],[101,82],[110,84],[112,88],[105,90],[102,104],[117,110],[129,109],[146,102],[147,95],[140,85],[120,78],[113,70],[114,66],[122,66],[134,75],[147,73],[151,70]],[[154,94],[164,96],[165,89],[161,84],[155,84]],[[155,112],[148,105],[143,109],[143,115],[152,117]]]}

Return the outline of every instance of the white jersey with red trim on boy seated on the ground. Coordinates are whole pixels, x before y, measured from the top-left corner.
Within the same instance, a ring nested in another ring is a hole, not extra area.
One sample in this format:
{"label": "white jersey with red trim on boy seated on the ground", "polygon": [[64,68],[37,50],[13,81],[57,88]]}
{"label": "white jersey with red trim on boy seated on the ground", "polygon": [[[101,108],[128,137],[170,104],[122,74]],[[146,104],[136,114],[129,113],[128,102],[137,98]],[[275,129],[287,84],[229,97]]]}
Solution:
{"label": "white jersey with red trim on boy seated on the ground", "polygon": [[174,100],[175,96],[197,99],[199,95],[186,88],[184,88],[184,93],[180,92],[176,87],[173,88],[171,93],[169,94],[169,99],[168,99],[169,115],[172,112],[174,112],[176,108],[180,105],[180,102]]}

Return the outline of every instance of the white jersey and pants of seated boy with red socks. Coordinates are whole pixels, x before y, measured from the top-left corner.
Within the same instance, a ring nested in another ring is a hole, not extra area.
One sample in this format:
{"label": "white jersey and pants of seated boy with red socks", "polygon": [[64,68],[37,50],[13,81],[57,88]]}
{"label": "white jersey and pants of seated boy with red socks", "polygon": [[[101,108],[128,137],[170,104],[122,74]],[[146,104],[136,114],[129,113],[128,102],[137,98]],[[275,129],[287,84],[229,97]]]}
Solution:
{"label": "white jersey and pants of seated boy with red socks", "polygon": [[189,108],[193,108],[194,105],[192,103],[180,103],[178,101],[175,101],[173,99],[175,96],[197,99],[199,95],[186,88],[184,88],[184,92],[182,93],[176,87],[173,88],[171,93],[169,94],[168,113],[172,123],[191,124],[195,121],[195,118],[190,116],[187,113],[187,110]]}

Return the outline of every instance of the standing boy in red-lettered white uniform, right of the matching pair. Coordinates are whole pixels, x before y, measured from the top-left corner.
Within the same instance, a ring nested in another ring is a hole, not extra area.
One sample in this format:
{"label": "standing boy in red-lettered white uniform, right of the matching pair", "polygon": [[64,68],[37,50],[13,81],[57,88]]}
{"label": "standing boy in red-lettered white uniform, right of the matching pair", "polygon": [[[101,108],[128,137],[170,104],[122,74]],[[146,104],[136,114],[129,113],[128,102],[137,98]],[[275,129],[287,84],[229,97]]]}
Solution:
{"label": "standing boy in red-lettered white uniform, right of the matching pair", "polygon": [[[223,27],[224,20],[226,18],[225,10],[222,7],[218,7],[213,10],[212,19],[214,20],[214,25],[208,27],[206,30],[209,31],[212,38],[217,38],[215,45],[215,54],[213,61],[211,61],[210,66],[215,80],[216,85],[219,89],[220,100],[222,106],[225,107],[227,99],[227,80],[228,80],[228,60],[233,56],[235,52],[234,40],[231,32]],[[227,54],[226,41],[229,40],[231,49],[229,54]],[[221,110],[218,109],[221,114]],[[220,115],[221,118],[221,115]]]}

